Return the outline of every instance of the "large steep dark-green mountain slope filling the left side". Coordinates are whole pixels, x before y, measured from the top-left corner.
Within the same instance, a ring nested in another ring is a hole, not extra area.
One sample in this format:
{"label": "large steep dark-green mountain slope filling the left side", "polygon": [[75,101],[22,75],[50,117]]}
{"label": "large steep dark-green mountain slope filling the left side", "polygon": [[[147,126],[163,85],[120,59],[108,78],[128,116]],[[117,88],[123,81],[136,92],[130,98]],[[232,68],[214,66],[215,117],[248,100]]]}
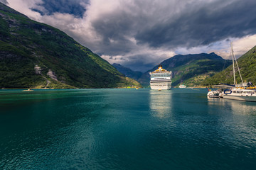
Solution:
{"label": "large steep dark-green mountain slope filling the left side", "polygon": [[0,3],[1,88],[139,86],[62,31]]}

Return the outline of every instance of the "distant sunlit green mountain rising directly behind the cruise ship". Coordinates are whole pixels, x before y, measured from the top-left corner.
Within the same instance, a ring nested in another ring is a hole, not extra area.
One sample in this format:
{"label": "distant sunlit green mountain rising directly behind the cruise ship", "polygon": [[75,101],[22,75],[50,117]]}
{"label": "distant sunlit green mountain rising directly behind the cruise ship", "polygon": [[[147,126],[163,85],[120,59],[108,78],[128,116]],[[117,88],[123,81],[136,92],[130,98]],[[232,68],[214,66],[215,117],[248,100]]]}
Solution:
{"label": "distant sunlit green mountain rising directly behind the cruise ship", "polygon": [[[201,84],[206,77],[213,76],[215,73],[228,67],[231,61],[224,60],[212,52],[210,54],[175,55],[160,64],[164,69],[173,72],[172,86],[178,86],[178,84],[194,86]],[[157,68],[158,65],[142,74],[142,77],[138,81],[142,85],[148,86],[150,79],[149,72],[153,72]]]}

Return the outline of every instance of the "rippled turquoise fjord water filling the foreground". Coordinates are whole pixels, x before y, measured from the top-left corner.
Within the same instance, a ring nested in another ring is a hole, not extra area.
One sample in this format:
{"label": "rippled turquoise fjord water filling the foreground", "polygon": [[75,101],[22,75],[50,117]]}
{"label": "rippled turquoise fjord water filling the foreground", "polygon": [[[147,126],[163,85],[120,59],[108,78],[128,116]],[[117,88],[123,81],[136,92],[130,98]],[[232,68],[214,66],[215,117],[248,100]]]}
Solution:
{"label": "rippled turquoise fjord water filling the foreground", "polygon": [[207,89],[0,91],[0,169],[255,169],[256,103]]}

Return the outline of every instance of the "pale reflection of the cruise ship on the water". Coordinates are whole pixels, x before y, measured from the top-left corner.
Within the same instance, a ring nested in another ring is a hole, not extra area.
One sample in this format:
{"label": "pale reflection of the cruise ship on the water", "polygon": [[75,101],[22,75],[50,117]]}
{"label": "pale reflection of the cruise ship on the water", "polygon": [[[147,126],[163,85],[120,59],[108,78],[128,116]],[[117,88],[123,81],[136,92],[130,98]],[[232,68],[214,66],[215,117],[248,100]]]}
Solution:
{"label": "pale reflection of the cruise ship on the water", "polygon": [[172,91],[150,91],[151,114],[158,118],[166,118],[171,115]]}

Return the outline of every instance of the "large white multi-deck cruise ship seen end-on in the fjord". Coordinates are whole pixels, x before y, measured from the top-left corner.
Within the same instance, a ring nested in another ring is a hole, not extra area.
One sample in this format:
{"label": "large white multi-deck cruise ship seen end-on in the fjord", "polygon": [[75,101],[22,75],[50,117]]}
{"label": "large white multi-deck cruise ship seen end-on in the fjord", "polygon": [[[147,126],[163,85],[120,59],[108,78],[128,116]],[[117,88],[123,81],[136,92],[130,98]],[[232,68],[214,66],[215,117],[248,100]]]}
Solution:
{"label": "large white multi-deck cruise ship seen end-on in the fjord", "polygon": [[150,88],[154,90],[169,90],[171,89],[171,72],[163,69],[161,65],[150,74]]}

